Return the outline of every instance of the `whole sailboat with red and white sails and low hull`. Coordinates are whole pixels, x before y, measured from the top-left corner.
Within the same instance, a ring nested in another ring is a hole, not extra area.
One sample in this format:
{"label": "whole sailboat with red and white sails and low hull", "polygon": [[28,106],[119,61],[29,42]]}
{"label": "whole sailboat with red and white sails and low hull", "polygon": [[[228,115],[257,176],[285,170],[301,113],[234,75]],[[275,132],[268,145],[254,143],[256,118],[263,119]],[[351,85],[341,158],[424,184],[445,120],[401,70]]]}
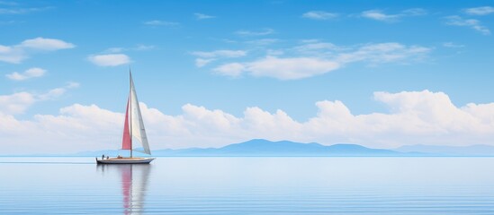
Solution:
{"label": "whole sailboat with red and white sails and low hull", "polygon": [[136,89],[134,87],[134,81],[132,81],[132,73],[129,71],[130,76],[130,92],[129,99],[127,99],[127,110],[125,111],[125,123],[123,124],[123,136],[121,138],[121,149],[130,150],[130,157],[124,158],[118,156],[117,158],[97,159],[97,164],[148,164],[153,161],[154,158],[139,158],[133,157],[132,151],[133,142],[137,140],[142,145],[141,153],[151,155],[149,150],[148,136],[146,135],[146,129],[142,122],[142,116],[140,114],[139,100],[137,99]]}

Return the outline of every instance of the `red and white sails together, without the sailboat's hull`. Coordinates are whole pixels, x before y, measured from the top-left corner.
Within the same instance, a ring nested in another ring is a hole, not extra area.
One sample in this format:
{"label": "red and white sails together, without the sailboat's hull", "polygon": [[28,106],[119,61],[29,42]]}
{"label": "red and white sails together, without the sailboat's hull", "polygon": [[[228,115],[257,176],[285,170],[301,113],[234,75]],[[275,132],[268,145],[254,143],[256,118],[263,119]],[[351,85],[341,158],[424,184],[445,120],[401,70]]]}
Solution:
{"label": "red and white sails together, without the sailboat's hull", "polygon": [[139,100],[137,98],[134,81],[130,73],[130,95],[127,100],[127,110],[125,111],[125,124],[123,125],[123,137],[121,140],[122,150],[132,150],[132,138],[141,143],[143,151],[146,154],[151,154],[148,144],[148,136],[142,122],[140,114]]}

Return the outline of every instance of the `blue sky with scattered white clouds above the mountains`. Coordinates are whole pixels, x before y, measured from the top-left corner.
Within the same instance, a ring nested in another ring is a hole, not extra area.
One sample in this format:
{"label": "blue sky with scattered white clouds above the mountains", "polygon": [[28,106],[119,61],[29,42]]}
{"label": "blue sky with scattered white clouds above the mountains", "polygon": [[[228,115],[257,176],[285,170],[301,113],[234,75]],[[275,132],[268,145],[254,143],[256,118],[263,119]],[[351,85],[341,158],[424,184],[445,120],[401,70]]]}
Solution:
{"label": "blue sky with scattered white clouds above the mountains", "polygon": [[494,1],[0,0],[0,154],[494,145]]}

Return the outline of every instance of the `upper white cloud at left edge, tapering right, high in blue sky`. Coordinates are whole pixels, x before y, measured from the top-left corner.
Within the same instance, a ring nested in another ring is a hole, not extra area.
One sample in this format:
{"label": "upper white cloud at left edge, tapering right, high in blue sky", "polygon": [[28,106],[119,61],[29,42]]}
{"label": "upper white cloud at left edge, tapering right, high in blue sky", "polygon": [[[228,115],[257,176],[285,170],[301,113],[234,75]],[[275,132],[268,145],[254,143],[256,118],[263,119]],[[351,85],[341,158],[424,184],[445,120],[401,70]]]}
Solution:
{"label": "upper white cloud at left edge, tapering right, high in blue sky", "polygon": [[26,39],[20,44],[13,46],[0,45],[0,61],[19,64],[38,51],[55,51],[76,47],[74,44],[67,43],[60,39]]}

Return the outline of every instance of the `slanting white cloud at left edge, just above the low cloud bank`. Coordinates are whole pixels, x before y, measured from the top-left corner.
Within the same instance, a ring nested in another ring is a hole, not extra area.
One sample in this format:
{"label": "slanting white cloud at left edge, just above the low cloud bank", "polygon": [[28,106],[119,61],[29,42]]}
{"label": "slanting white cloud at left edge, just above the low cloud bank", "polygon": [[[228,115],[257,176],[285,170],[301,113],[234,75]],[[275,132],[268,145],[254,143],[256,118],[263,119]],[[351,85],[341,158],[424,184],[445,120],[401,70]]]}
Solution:
{"label": "slanting white cloud at left edge, just above the low cloud bank", "polygon": [[34,103],[43,100],[58,99],[58,97],[62,96],[67,89],[73,89],[78,86],[79,83],[68,82],[64,87],[55,88],[41,94],[23,91],[11,95],[0,95],[0,115],[22,114]]}

